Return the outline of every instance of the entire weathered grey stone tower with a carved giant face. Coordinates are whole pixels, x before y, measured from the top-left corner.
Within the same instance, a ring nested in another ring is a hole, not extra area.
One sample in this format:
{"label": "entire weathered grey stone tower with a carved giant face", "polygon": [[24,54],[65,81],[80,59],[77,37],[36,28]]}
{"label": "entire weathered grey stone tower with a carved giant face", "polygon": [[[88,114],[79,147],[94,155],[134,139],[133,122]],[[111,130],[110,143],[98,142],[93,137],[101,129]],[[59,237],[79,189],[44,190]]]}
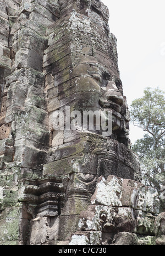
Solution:
{"label": "entire weathered grey stone tower with a carved giant face", "polygon": [[[0,244],[161,241],[108,18],[100,0],[1,0]],[[85,111],[111,113],[112,133],[71,129]]]}

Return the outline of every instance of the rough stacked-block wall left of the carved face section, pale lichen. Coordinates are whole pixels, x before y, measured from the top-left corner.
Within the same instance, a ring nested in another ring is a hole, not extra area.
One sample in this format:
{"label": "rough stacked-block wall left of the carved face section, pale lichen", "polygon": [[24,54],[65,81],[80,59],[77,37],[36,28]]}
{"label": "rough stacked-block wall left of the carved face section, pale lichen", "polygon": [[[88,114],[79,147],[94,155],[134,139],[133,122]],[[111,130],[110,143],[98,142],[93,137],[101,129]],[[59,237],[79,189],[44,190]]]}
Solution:
{"label": "rough stacked-block wall left of the carved face section, pale lichen", "polygon": [[29,231],[25,178],[42,175],[49,147],[43,51],[56,1],[1,1],[1,243],[24,244]]}

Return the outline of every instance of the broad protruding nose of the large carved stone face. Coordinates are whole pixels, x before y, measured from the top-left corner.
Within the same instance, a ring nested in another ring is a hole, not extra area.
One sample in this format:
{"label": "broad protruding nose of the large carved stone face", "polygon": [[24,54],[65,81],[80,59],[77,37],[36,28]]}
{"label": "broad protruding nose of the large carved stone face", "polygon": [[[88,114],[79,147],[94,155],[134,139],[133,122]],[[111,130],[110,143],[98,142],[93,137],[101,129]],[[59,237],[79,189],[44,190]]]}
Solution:
{"label": "broad protruding nose of the large carved stone face", "polygon": [[120,106],[122,106],[124,103],[124,98],[122,96],[122,93],[119,92],[116,86],[116,83],[114,82],[108,82],[105,96],[107,101],[112,101],[114,103],[117,103]]}

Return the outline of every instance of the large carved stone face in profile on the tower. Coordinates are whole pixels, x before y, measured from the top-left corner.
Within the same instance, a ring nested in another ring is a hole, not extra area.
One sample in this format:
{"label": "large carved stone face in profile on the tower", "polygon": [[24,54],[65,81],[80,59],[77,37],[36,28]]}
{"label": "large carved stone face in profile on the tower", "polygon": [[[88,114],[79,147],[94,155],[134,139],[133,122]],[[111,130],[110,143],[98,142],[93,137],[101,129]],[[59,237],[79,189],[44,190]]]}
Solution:
{"label": "large carved stone face in profile on the tower", "polygon": [[[97,59],[85,60],[70,70],[70,80],[59,86],[59,105],[70,106],[71,110],[80,111],[112,111],[112,139],[127,144],[127,102],[123,96],[122,81],[117,70],[110,71],[97,63]],[[76,76],[76,77],[75,77]],[[99,132],[97,132],[99,133]],[[120,139],[119,137],[123,137]]]}

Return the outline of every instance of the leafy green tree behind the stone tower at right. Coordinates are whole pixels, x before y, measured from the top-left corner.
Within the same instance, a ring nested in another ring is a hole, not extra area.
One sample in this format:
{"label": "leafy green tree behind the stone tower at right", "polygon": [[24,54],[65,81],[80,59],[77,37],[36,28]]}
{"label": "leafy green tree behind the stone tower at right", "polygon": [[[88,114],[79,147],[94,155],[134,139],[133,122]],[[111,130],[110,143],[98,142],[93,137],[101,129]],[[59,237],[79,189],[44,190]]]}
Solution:
{"label": "leafy green tree behind the stone tower at right", "polygon": [[139,155],[142,179],[146,185],[161,191],[165,185],[165,92],[147,87],[144,96],[131,103],[130,116],[135,126],[145,132],[132,149]]}

